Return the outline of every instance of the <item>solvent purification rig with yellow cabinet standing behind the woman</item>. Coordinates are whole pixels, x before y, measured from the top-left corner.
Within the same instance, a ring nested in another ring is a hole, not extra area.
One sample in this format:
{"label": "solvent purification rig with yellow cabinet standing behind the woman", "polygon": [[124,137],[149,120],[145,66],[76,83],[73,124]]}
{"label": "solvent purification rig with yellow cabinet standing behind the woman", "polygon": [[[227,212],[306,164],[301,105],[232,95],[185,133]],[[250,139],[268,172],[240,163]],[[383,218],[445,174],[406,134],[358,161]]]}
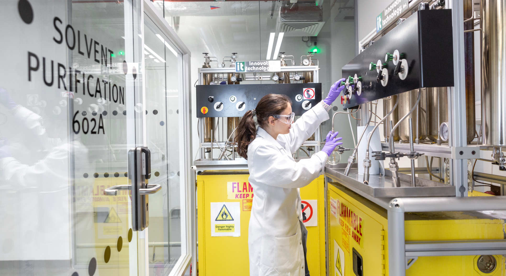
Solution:
{"label": "solvent purification rig with yellow cabinet standing behind the woman", "polygon": [[[270,93],[287,95],[296,118],[319,103],[322,97],[319,61],[313,54],[305,53],[299,59],[281,52],[275,61],[241,61],[238,53],[222,60],[203,53],[196,89],[199,152],[193,162],[197,180],[199,275],[249,273],[248,223],[255,191],[248,182],[247,161],[237,155],[234,143],[237,125],[246,111],[254,109]],[[321,137],[318,128],[293,153],[293,158],[309,158],[320,151]],[[301,189],[303,208],[308,210],[311,275],[325,274],[324,191],[323,176]],[[224,267],[224,255],[216,252],[225,248],[234,261]]]}

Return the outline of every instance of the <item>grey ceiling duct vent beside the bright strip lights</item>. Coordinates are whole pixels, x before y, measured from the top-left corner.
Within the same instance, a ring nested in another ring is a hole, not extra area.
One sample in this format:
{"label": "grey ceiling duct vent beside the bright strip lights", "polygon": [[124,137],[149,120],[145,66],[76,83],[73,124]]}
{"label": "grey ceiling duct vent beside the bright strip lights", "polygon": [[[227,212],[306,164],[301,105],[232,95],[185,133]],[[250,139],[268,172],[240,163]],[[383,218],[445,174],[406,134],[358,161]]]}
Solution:
{"label": "grey ceiling duct vent beside the bright strip lights", "polygon": [[321,6],[293,4],[279,9],[276,31],[284,36],[316,36],[325,22]]}

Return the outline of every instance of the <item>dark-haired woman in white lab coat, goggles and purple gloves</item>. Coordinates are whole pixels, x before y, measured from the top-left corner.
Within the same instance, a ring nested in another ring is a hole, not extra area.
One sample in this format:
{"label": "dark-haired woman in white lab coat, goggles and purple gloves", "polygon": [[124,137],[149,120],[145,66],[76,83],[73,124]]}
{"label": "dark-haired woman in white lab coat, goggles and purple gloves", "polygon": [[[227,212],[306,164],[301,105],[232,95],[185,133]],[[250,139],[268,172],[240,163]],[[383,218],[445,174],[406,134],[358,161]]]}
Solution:
{"label": "dark-haired woman in white lab coat, goggles and purple gloves", "polygon": [[[248,160],[254,197],[248,229],[249,274],[309,275],[305,260],[307,230],[302,223],[299,189],[323,172],[328,156],[343,143],[338,132],[329,132],[325,146],[308,159],[296,162],[295,152],[323,121],[330,104],[344,86],[341,79],[327,98],[293,123],[291,101],[269,94],[239,122],[237,152]],[[254,117],[257,117],[255,122]],[[258,125],[258,129],[257,129]],[[304,244],[304,246],[303,246]]]}

